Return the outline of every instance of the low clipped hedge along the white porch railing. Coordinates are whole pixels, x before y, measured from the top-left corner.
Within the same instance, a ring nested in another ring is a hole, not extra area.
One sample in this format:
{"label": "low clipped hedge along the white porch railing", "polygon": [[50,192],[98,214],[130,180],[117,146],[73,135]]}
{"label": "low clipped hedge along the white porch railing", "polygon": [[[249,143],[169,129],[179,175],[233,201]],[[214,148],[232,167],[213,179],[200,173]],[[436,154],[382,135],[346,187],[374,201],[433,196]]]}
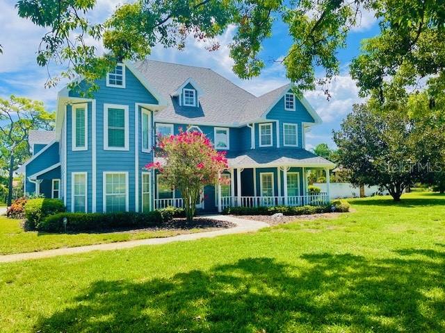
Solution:
{"label": "low clipped hedge along the white porch railing", "polygon": [[281,213],[283,215],[309,215],[331,212],[330,205],[320,206],[275,206],[275,207],[227,207],[223,214],[233,215],[273,215]]}

